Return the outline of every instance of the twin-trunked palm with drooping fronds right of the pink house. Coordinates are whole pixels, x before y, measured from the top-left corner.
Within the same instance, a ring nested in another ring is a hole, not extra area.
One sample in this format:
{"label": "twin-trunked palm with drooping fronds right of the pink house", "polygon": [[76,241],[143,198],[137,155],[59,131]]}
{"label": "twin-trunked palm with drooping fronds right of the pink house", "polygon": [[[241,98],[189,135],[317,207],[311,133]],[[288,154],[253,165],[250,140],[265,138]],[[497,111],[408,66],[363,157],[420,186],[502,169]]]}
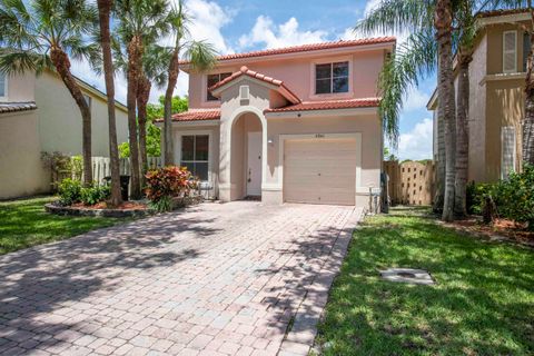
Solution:
{"label": "twin-trunked palm with drooping fronds right of the pink house", "polygon": [[[451,43],[443,43],[443,36],[439,37],[439,31],[436,26],[443,26],[443,11],[436,17],[437,4],[443,6],[437,0],[434,1],[416,1],[416,0],[387,0],[383,1],[378,8],[373,10],[366,19],[364,19],[356,30],[364,32],[376,31],[408,31],[412,34],[405,43],[400,44],[396,53],[385,63],[380,80],[378,82],[382,91],[383,100],[380,102],[379,111],[384,120],[384,128],[389,140],[395,144],[398,136],[398,113],[403,106],[403,98],[406,96],[407,88],[417,86],[418,80],[432,73],[436,68],[436,53],[438,52],[439,60],[445,60],[445,67],[438,66],[439,69],[446,69],[446,80],[441,83],[447,83],[446,92],[452,96],[448,100],[444,100],[445,95],[442,87],[439,95],[438,107],[438,131],[439,139],[444,139],[445,130],[444,122],[447,130],[458,127],[458,149],[454,151],[455,145],[448,141],[445,149],[439,150],[439,159],[437,167],[438,189],[435,197],[435,210],[442,210],[445,198],[445,172],[448,165],[448,195],[447,198],[447,216],[451,218],[451,211],[455,210],[457,215],[465,214],[465,187],[467,181],[467,152],[468,152],[468,135],[467,135],[467,115],[468,115],[468,63],[471,62],[471,52],[473,51],[473,40],[475,34],[474,13],[481,7],[486,7],[488,3],[477,2],[472,0],[459,1],[456,0],[446,4],[451,7],[451,26],[455,22],[457,28],[457,36],[455,36],[454,48],[457,50],[458,71],[459,71],[459,90],[458,90],[458,112],[455,119],[455,102],[454,102],[454,87],[452,86],[453,70],[452,53],[453,38],[449,36],[452,27],[445,31],[445,38],[449,38]],[[478,7],[478,8],[477,8]],[[454,17],[453,17],[454,14]],[[445,27],[448,24],[445,23]],[[443,33],[443,28],[442,32]],[[436,41],[441,38],[442,41]],[[438,47],[438,44],[441,47]],[[446,57],[443,58],[443,51]],[[445,71],[445,70],[444,70]],[[439,72],[438,77],[443,77],[444,71]],[[448,121],[446,120],[448,118]],[[456,120],[456,121],[455,121]],[[451,131],[447,132],[447,139],[453,138]],[[442,144],[442,142],[441,142]],[[441,147],[443,145],[439,145]],[[447,155],[448,152],[448,155]],[[445,159],[448,157],[448,161]],[[459,166],[455,167],[455,161]],[[445,165],[444,165],[445,164]],[[453,175],[452,175],[453,174]],[[451,179],[451,176],[453,179]],[[457,189],[457,195],[452,195],[452,191]],[[453,197],[453,198],[452,198]],[[452,200],[451,200],[452,198]]]}

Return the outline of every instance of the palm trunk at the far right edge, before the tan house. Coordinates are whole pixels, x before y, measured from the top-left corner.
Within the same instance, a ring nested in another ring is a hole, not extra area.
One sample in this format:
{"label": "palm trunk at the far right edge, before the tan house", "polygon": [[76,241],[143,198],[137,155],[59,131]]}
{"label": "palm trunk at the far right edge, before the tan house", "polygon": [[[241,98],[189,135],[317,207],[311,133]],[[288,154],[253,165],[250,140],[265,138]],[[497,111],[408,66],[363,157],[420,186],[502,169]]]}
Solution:
{"label": "palm trunk at the far right edge, before the tan house", "polygon": [[[534,9],[531,9],[534,26]],[[527,59],[525,85],[525,119],[523,121],[523,162],[534,165],[534,36],[531,32],[531,52]]]}

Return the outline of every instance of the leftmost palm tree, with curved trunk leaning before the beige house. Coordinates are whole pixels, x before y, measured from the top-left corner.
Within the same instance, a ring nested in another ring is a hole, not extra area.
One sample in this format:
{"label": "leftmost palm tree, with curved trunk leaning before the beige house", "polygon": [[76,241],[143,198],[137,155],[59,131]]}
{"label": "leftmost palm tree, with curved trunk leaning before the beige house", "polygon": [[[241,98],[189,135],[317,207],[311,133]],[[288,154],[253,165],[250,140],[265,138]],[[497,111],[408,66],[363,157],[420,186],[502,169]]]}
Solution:
{"label": "leftmost palm tree, with curved trunk leaning before the beige house", "polygon": [[81,113],[86,185],[92,184],[91,110],[70,59],[93,61],[98,56],[98,46],[86,41],[97,22],[97,9],[85,0],[0,0],[0,43],[7,48],[0,53],[0,71],[57,71]]}

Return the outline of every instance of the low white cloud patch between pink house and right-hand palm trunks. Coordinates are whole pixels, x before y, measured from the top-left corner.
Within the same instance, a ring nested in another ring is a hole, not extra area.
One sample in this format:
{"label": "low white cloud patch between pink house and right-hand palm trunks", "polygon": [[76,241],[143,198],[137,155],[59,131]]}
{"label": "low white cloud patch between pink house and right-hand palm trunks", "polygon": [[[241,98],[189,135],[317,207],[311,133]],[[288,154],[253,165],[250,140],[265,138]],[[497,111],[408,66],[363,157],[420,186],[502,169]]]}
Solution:
{"label": "low white cloud patch between pink house and right-hand palm trunks", "polygon": [[398,139],[398,157],[400,159],[432,158],[432,119],[423,119],[411,131],[400,134]]}

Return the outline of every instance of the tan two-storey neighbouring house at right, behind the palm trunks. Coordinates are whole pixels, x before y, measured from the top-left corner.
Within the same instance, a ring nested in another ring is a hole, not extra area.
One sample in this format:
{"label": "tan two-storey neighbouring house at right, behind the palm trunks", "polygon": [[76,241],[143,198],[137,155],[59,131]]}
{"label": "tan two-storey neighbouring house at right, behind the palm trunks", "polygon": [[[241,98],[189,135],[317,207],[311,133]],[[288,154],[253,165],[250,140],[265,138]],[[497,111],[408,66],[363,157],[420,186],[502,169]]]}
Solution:
{"label": "tan two-storey neighbouring house at right, behind the palm trunks", "polygon": [[[522,161],[524,87],[531,26],[525,10],[478,14],[479,33],[469,67],[468,179],[495,181],[518,170]],[[457,79],[456,79],[457,83]],[[434,111],[434,158],[437,139],[437,96],[427,108]]]}

